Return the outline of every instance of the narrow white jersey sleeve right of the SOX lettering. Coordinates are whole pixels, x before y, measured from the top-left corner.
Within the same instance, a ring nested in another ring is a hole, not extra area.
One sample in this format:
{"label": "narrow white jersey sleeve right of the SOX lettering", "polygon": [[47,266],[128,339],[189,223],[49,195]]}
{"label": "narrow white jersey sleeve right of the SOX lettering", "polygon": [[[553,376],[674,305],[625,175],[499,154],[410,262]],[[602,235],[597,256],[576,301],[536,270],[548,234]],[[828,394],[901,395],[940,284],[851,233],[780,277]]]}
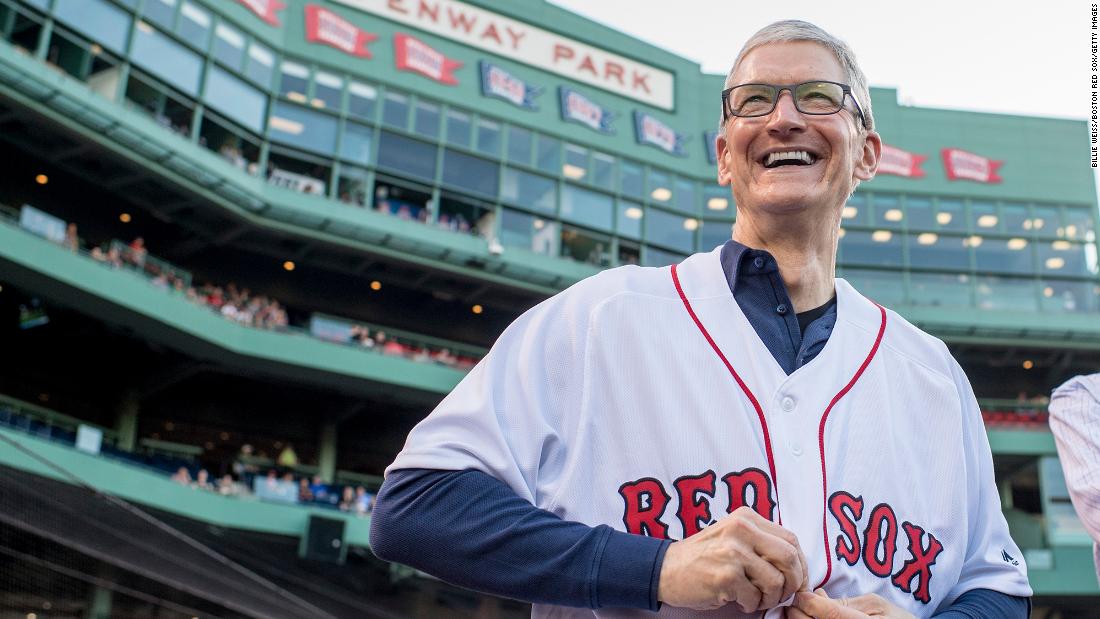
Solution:
{"label": "narrow white jersey sleeve right of the SOX lettering", "polygon": [[969,505],[966,510],[967,548],[963,568],[958,583],[948,592],[941,608],[946,608],[972,589],[1030,597],[1032,589],[1027,583],[1023,553],[1009,534],[1009,524],[1001,512],[1001,499],[993,478],[993,455],[978,400],[963,368],[954,358],[949,363],[961,405],[961,446],[966,463],[964,483]]}

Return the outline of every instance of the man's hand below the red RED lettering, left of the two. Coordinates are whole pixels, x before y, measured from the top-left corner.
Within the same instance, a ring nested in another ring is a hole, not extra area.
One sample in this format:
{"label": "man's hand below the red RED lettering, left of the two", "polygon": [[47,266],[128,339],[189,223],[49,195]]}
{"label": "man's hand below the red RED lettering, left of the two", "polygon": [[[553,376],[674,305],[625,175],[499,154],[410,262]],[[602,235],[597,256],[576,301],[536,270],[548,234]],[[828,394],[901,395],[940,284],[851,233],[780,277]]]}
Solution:
{"label": "man's hand below the red RED lettering, left of the two", "polygon": [[744,612],[772,608],[809,587],[794,533],[748,507],[669,546],[657,597],[706,610],[736,603]]}

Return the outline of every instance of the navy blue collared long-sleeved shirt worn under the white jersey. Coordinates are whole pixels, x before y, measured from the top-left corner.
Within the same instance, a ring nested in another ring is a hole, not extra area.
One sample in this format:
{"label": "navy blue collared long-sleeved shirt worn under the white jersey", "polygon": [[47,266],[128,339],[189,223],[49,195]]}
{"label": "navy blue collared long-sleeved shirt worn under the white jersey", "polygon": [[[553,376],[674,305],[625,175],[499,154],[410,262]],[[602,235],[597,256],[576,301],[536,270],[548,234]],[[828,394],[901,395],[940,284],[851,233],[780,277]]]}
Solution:
{"label": "navy blue collared long-sleeved shirt worn under the white jersey", "polygon": [[[795,314],[776,259],[729,241],[722,267],[737,306],[784,372],[810,363],[836,323],[836,299]],[[391,472],[371,521],[371,550],[471,589],[536,604],[657,610],[670,540],[562,520],[480,471]],[[944,619],[1024,619],[1031,601],[974,589]]]}

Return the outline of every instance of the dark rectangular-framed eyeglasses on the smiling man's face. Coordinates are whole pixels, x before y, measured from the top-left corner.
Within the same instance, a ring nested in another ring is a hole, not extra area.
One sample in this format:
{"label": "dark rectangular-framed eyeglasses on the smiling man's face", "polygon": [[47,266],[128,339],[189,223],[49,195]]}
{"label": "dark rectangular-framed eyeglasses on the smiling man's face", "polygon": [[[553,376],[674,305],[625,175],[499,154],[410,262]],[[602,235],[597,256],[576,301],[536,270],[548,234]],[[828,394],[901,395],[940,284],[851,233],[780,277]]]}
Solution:
{"label": "dark rectangular-framed eyeglasses on the smiling man's face", "polygon": [[754,118],[766,117],[776,109],[779,96],[784,91],[791,92],[794,99],[794,108],[804,114],[825,115],[835,114],[844,109],[844,98],[851,97],[856,112],[859,113],[860,123],[864,129],[867,126],[867,117],[864,115],[859,101],[851,93],[851,87],[847,84],[836,81],[804,81],[802,84],[741,84],[722,91],[722,120],[725,122],[729,117]]}

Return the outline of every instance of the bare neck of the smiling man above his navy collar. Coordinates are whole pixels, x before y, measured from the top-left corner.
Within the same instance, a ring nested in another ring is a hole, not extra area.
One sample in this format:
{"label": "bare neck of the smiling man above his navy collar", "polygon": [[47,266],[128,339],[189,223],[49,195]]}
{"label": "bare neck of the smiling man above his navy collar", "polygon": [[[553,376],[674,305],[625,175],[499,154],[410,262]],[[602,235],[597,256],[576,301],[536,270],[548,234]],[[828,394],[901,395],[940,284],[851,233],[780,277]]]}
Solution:
{"label": "bare neck of the smiling man above his navy collar", "polygon": [[805,228],[791,223],[776,222],[768,226],[738,217],[734,241],[765,250],[776,258],[794,311],[803,312],[833,298],[837,233],[826,222]]}

